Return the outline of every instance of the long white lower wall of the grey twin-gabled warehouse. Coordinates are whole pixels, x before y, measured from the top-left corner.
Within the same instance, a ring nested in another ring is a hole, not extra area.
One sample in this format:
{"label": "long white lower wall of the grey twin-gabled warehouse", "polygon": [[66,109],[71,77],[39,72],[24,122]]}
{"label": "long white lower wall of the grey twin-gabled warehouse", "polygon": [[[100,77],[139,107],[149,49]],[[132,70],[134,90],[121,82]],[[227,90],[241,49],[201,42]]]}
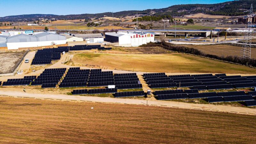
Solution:
{"label": "long white lower wall of the grey twin-gabled warehouse", "polygon": [[8,50],[25,48],[25,47],[39,47],[39,46],[48,46],[51,45],[52,42],[57,44],[66,44],[66,40],[58,40],[58,41],[43,41],[43,42],[20,42],[20,43],[7,43]]}

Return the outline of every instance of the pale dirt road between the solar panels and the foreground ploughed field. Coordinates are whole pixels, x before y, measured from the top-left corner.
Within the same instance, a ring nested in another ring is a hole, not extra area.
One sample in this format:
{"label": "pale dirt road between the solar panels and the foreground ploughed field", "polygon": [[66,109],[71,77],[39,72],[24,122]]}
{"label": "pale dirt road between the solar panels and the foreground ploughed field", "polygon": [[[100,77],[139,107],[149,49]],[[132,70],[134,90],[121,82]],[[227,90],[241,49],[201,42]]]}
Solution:
{"label": "pale dirt road between the solar panels and the foreground ploughed field", "polygon": [[101,103],[121,103],[121,104],[136,104],[145,105],[148,103],[150,106],[160,106],[160,107],[173,107],[173,108],[186,108],[186,109],[201,109],[209,111],[220,111],[220,112],[230,112],[239,113],[247,115],[256,115],[256,109],[254,108],[243,108],[243,107],[231,107],[222,105],[211,105],[211,104],[193,104],[175,101],[154,101],[154,100],[137,100],[137,99],[122,99],[122,98],[102,98],[93,96],[74,96],[74,95],[63,95],[63,94],[35,94],[28,92],[15,92],[15,91],[5,91],[2,89],[0,91],[2,96],[12,96],[12,97],[23,97],[23,98],[35,98],[35,99],[51,99],[51,100],[68,100],[68,101],[92,101]]}

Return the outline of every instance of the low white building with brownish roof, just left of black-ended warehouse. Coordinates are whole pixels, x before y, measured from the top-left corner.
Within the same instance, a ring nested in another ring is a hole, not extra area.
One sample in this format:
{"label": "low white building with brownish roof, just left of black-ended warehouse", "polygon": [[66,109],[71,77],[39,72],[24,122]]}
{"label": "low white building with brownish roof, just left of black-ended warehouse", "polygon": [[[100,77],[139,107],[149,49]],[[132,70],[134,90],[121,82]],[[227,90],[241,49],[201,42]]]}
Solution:
{"label": "low white building with brownish roof, just left of black-ended warehouse", "polygon": [[103,43],[104,42],[104,37],[103,34],[73,34],[72,36],[76,36],[79,38],[83,38],[87,44],[90,43]]}

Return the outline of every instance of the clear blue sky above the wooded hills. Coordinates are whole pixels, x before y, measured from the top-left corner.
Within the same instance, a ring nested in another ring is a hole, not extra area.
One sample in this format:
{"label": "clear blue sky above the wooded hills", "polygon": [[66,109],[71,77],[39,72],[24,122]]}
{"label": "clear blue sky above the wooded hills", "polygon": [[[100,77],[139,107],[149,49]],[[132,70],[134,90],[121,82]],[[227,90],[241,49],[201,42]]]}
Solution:
{"label": "clear blue sky above the wooded hills", "polygon": [[165,8],[176,4],[215,4],[230,0],[0,0],[0,17],[21,14],[82,14]]}

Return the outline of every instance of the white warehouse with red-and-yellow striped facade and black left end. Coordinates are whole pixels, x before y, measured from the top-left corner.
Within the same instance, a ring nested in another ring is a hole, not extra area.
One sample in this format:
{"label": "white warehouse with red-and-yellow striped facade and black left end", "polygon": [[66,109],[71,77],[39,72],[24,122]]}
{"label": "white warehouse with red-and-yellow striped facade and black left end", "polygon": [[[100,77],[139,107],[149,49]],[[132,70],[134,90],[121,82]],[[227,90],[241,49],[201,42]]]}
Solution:
{"label": "white warehouse with red-and-yellow striped facade and black left end", "polygon": [[119,46],[140,46],[155,41],[155,35],[148,32],[106,33],[105,41],[118,43]]}

